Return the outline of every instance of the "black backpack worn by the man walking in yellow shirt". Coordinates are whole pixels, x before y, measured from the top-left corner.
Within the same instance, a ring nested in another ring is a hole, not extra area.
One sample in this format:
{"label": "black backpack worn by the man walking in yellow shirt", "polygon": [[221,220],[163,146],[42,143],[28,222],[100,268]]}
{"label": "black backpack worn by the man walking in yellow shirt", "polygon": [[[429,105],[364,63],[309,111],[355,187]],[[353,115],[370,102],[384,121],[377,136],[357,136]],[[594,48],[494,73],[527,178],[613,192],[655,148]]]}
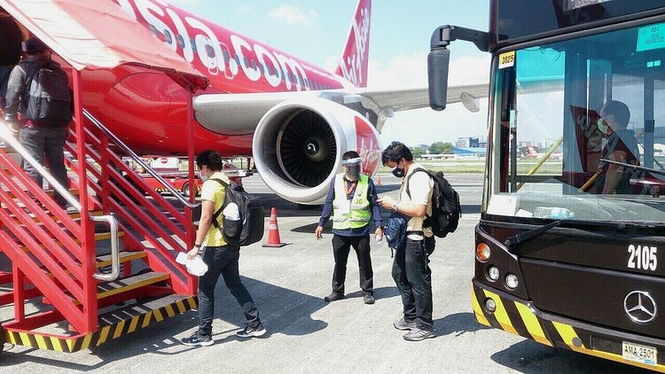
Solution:
{"label": "black backpack worn by the man walking in yellow shirt", "polygon": [[[213,178],[211,181],[222,184],[226,188],[223,205],[213,214],[213,225],[222,231],[224,241],[231,246],[250,245],[263,238],[263,204],[261,199],[247,193],[241,185],[231,182],[225,183],[221,179]],[[240,219],[231,221],[226,216],[223,227],[219,227],[217,217],[224,208],[235,203],[238,206]]]}

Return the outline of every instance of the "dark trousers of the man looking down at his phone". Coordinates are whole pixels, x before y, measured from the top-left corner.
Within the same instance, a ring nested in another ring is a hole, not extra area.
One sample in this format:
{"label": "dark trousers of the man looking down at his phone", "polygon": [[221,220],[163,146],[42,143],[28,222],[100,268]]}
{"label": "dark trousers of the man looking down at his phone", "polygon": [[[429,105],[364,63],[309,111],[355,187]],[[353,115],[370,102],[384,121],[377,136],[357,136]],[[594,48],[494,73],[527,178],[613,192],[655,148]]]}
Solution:
{"label": "dark trousers of the man looking down at his phone", "polygon": [[406,247],[395,251],[393,279],[402,296],[404,320],[415,321],[420,329],[431,329],[432,269],[427,265],[424,240],[406,239]]}

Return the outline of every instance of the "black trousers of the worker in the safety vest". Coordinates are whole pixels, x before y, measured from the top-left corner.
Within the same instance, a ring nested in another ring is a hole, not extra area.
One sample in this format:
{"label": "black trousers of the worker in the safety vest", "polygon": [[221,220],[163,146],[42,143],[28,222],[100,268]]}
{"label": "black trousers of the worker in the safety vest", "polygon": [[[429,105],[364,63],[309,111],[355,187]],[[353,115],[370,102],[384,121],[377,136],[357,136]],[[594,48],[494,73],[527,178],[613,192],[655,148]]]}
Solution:
{"label": "black trousers of the worker in the safety vest", "polygon": [[370,258],[370,236],[343,237],[332,236],[332,255],[335,258],[335,269],[332,272],[332,292],[344,294],[344,281],[347,277],[348,253],[351,247],[356,250],[358,269],[360,270],[360,288],[363,294],[374,293],[374,272]]}

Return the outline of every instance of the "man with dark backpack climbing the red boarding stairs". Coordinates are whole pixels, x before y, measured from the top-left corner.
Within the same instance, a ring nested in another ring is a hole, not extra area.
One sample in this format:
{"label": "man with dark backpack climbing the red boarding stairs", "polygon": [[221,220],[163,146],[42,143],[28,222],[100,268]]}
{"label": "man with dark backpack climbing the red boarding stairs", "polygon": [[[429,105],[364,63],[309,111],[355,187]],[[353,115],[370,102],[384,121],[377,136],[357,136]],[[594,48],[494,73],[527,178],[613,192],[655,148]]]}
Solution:
{"label": "man with dark backpack climbing the red boarding stairs", "polygon": [[[51,175],[67,188],[64,148],[73,113],[69,81],[41,40],[30,37],[24,51],[27,58],[14,66],[9,77],[4,121],[12,132],[19,133],[20,129],[20,144],[35,160],[45,163]],[[28,162],[23,168],[42,187],[42,175]],[[66,199],[58,193],[55,200],[66,207]]]}

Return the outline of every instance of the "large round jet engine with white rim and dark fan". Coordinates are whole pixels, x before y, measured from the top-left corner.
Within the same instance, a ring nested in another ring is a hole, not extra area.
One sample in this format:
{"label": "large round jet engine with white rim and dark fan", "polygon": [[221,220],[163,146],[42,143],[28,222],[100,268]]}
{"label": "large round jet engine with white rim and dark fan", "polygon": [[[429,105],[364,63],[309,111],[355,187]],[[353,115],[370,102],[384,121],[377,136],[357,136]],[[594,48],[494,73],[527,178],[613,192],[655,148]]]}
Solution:
{"label": "large round jet engine with white rim and dark fan", "polygon": [[363,173],[379,166],[379,137],[360,113],[326,100],[285,101],[265,113],[254,131],[252,152],[263,182],[284,199],[320,204],[341,155],[360,153]]}

